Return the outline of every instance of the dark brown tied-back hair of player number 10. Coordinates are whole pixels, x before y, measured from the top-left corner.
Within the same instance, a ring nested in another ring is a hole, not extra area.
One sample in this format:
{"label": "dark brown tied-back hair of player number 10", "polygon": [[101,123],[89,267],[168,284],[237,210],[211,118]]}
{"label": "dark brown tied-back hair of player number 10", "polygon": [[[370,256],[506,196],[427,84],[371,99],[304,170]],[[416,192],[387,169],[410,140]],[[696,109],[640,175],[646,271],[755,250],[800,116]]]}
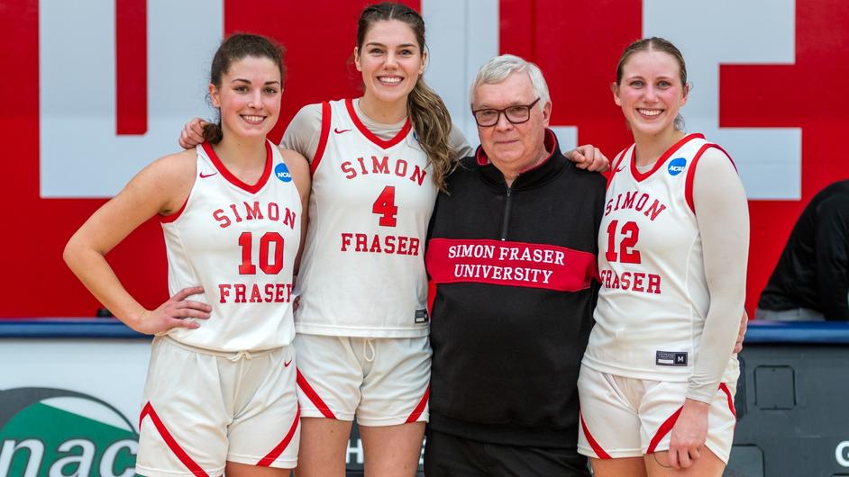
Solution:
{"label": "dark brown tied-back hair of player number 10", "polygon": [[[286,67],[283,64],[283,47],[274,40],[262,35],[251,33],[235,33],[221,42],[215,51],[212,66],[209,67],[209,82],[221,89],[221,80],[233,63],[245,57],[269,58],[280,70],[280,83],[286,77]],[[209,122],[204,126],[204,139],[212,144],[218,144],[224,139],[221,130],[221,114],[218,121]]]}

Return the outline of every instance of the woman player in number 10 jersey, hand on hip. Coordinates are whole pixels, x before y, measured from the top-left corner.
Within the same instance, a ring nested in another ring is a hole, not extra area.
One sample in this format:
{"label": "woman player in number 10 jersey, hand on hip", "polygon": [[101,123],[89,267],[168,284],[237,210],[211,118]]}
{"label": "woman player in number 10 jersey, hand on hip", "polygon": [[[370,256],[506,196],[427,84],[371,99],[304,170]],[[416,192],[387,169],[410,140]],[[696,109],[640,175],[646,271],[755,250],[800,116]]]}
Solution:
{"label": "woman player in number 10 jersey, hand on hip", "polygon": [[[148,476],[286,476],[300,430],[293,272],[309,169],[266,134],[278,120],[282,51],[239,34],[213,59],[220,112],[197,148],[153,162],[78,229],[65,260],[114,315],[155,335],[136,472]],[[147,309],[105,255],[159,217],[168,301]],[[304,221],[306,223],[306,221]]]}

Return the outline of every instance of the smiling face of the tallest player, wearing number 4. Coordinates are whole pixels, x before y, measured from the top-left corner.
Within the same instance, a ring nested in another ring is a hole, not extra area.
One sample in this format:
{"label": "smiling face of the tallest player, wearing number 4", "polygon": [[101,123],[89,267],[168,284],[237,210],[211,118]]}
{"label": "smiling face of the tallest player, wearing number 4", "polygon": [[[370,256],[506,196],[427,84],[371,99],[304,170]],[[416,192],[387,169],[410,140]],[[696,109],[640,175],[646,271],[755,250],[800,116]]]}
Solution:
{"label": "smiling face of the tallest player, wearing number 4", "polygon": [[354,61],[365,85],[364,96],[381,103],[406,103],[424,73],[425,58],[415,31],[406,23],[372,23],[362,45],[354,49]]}

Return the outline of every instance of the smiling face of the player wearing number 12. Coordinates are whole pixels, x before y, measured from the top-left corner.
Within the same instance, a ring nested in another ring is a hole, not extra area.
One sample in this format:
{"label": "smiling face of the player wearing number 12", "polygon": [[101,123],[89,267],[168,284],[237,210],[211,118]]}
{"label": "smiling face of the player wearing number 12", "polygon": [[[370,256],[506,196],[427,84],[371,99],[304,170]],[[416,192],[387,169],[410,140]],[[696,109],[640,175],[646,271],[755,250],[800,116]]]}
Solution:
{"label": "smiling face of the player wearing number 12", "polygon": [[622,65],[622,77],[613,85],[613,99],[622,108],[635,135],[668,134],[687,103],[678,60],[669,53],[647,49],[634,52]]}

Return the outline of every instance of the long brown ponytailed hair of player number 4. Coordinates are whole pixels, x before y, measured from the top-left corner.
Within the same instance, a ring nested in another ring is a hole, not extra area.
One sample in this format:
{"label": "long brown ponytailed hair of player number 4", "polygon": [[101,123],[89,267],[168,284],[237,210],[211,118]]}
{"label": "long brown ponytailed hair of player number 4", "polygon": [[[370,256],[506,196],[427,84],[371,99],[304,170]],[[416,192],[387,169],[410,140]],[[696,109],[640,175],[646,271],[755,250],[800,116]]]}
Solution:
{"label": "long brown ponytailed hair of player number 4", "polygon": [[[406,23],[415,33],[419,53],[424,55],[424,20],[412,8],[405,4],[385,2],[367,6],[360,15],[357,23],[357,49],[362,50],[362,42],[371,25],[381,21],[397,20]],[[445,177],[451,172],[454,157],[457,155],[451,145],[451,114],[430,86],[419,76],[413,91],[406,99],[406,108],[413,122],[413,130],[418,136],[427,159],[433,166],[434,184],[445,190]]]}

